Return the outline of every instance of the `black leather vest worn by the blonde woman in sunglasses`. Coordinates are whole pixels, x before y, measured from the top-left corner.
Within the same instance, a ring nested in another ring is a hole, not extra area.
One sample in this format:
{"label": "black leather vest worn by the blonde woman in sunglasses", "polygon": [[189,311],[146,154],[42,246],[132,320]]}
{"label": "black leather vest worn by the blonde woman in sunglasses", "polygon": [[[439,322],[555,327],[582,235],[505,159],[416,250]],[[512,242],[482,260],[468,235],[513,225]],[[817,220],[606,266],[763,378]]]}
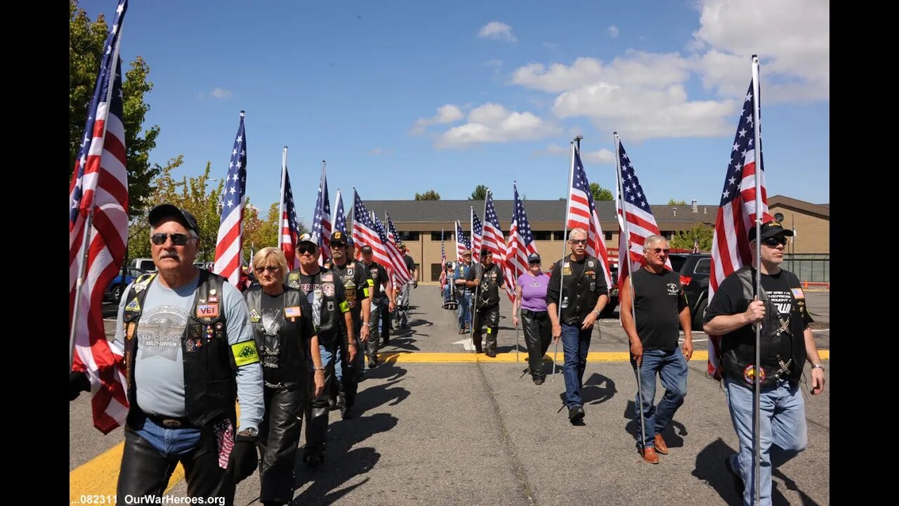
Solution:
{"label": "black leather vest worn by the blonde woman in sunglasses", "polygon": [[[256,349],[259,350],[263,366],[263,379],[269,386],[283,385],[288,388],[296,388],[306,384],[308,367],[306,365],[307,340],[312,336],[304,336],[301,333],[300,317],[285,318],[284,314],[289,309],[299,310],[300,301],[306,298],[298,289],[286,286],[281,297],[284,310],[278,312],[278,333],[271,335],[263,327],[262,305],[263,289],[255,286],[246,292],[246,305],[250,312],[250,325],[253,327],[253,337],[256,341]],[[301,315],[306,316],[306,315]],[[311,316],[311,315],[310,315]],[[270,356],[266,353],[266,338],[276,337],[278,354]]]}

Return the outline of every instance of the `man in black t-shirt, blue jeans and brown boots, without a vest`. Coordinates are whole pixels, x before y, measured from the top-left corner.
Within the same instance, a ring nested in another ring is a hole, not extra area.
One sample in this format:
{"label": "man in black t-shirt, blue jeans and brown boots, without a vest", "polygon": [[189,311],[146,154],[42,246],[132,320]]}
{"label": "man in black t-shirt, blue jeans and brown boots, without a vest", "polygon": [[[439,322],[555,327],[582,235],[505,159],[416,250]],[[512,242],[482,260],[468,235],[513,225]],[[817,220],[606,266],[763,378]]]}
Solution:
{"label": "man in black t-shirt, blue jeans and brown boots, without a vest", "polygon": [[[636,409],[636,416],[642,413],[643,421],[636,425],[636,449],[650,464],[659,463],[658,454],[668,455],[662,432],[687,395],[687,361],[693,356],[690,307],[680,276],[666,266],[668,252],[665,238],[647,237],[643,243],[643,266],[635,270],[619,295],[621,325],[630,340],[630,365],[635,373],[640,368],[635,402],[642,405]],[[682,351],[678,348],[679,327],[684,335]],[[658,406],[656,375],[665,387]]]}

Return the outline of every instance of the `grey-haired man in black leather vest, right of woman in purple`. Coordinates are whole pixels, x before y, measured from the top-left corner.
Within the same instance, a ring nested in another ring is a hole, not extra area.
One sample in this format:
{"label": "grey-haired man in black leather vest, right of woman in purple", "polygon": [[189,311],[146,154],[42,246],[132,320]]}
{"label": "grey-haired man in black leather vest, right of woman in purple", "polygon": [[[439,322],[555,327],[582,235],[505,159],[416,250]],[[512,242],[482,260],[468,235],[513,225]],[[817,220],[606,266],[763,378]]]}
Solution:
{"label": "grey-haired man in black leather vest, right of woman in purple", "polygon": [[552,321],[553,339],[561,338],[565,350],[564,400],[572,425],[583,420],[581,388],[593,324],[609,303],[602,264],[598,258],[587,255],[587,237],[587,230],[571,230],[568,234],[571,254],[553,266],[547,288],[547,314]]}

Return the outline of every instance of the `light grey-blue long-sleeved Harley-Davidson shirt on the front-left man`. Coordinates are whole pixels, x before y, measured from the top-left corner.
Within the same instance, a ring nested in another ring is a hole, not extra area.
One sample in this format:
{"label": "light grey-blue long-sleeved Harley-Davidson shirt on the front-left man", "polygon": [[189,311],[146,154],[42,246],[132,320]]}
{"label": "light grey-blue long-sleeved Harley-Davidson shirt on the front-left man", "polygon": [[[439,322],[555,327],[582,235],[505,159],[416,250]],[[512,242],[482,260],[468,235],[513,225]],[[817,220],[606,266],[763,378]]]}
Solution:
{"label": "light grey-blue long-sleeved Harley-Davidson shirt on the front-left man", "polygon": [[[154,279],[147,289],[144,310],[138,325],[138,354],[134,362],[134,382],[140,409],[150,414],[183,417],[184,366],[181,338],[193,305],[199,273],[190,283],[178,289],[163,286]],[[125,290],[129,294],[131,285]],[[226,317],[227,340],[236,344],[253,340],[249,314],[243,295],[230,284],[222,286],[222,312]],[[116,341],[112,346],[123,353],[124,327],[122,315],[128,297],[119,303]],[[263,420],[263,368],[258,364],[239,367],[236,375],[237,397],[240,399],[240,428],[259,427]]]}

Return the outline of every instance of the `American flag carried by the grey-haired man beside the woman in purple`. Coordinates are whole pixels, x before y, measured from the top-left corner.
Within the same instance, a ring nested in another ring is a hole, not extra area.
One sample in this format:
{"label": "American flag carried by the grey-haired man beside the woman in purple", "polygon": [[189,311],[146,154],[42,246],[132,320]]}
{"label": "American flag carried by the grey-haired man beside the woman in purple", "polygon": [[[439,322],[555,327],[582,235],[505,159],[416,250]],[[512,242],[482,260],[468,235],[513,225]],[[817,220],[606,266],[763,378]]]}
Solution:
{"label": "American flag carried by the grey-haired man beside the woman in purple", "polygon": [[572,186],[568,193],[566,226],[568,229],[587,230],[587,254],[600,260],[606,286],[611,287],[609,253],[606,251],[605,236],[600,226],[600,215],[596,212],[596,203],[593,203],[593,193],[587,174],[583,170],[581,153],[574,146],[572,146],[571,170]]}

